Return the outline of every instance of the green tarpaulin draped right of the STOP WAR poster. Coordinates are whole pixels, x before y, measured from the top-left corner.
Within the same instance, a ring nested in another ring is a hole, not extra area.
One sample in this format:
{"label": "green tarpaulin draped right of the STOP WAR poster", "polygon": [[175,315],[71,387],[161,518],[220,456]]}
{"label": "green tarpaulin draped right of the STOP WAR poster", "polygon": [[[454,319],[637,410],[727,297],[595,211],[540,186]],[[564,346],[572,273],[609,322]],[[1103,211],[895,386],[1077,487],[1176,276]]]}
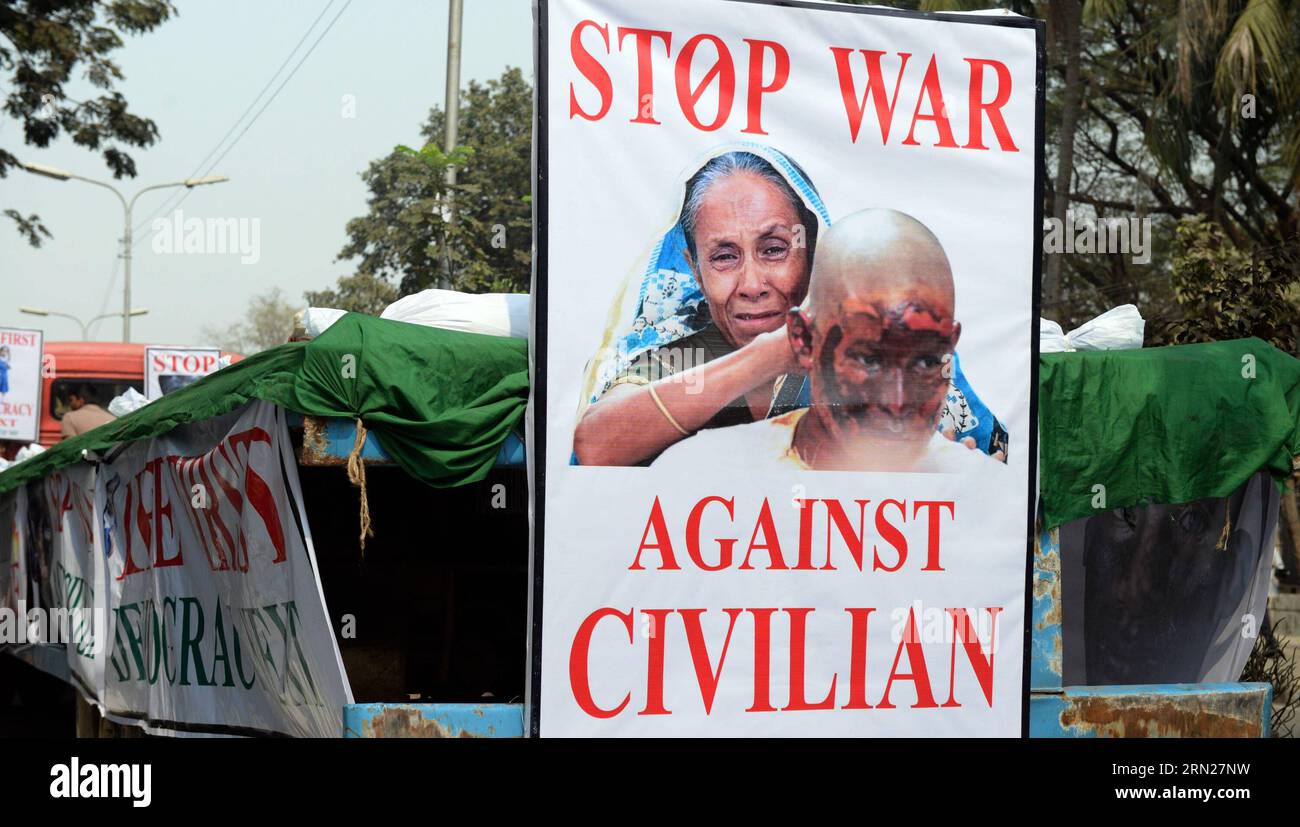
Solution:
{"label": "green tarpaulin draped right of the STOP WAR poster", "polygon": [[1260,339],[1040,358],[1044,528],[1280,484],[1297,454],[1300,360]]}

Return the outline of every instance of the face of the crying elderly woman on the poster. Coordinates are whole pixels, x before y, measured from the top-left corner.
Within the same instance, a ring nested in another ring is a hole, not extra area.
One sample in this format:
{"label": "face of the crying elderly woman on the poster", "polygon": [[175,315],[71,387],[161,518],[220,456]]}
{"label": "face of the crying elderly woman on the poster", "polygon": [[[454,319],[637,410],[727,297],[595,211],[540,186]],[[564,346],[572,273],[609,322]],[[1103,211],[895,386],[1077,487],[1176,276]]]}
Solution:
{"label": "face of the crying elderly woman on the poster", "polygon": [[789,199],[753,173],[733,173],[706,192],[692,264],[714,324],[732,345],[776,330],[803,300],[811,268],[798,222]]}

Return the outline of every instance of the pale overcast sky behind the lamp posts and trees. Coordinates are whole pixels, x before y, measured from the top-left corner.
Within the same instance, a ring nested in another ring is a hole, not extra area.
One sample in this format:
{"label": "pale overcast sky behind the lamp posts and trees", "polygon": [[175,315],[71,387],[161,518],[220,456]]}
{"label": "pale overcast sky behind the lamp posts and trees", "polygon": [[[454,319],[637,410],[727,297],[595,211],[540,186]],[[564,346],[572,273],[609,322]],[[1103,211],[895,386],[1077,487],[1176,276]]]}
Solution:
{"label": "pale overcast sky behind the lamp posts and trees", "polygon": [[[334,0],[266,96],[343,3]],[[161,133],[152,148],[130,151],[138,176],[114,182],[127,198],[139,187],[194,173],[326,0],[177,0],[176,5],[177,17],[127,39],[114,56],[126,75],[117,88],[131,111],[153,118]],[[464,5],[462,82],[495,78],[507,66],[520,66],[530,78],[529,0],[467,0]],[[333,286],[338,276],[350,273],[350,263],[334,256],[346,241],[346,222],[365,211],[365,187],[358,174],[398,143],[419,146],[419,127],[429,108],[443,103],[446,43],[446,0],[354,0],[212,170],[230,181],[196,187],[179,205],[186,220],[242,218],[246,231],[256,218],[256,263],[243,263],[238,252],[157,254],[146,224],[146,238],[138,237],[134,247],[131,304],[150,312],[131,321],[133,341],[203,345],[203,325],[239,321],[255,294],[281,287],[299,303],[304,290]],[[346,117],[350,103],[354,117]],[[12,118],[0,117],[0,146],[22,161],[112,181],[98,153],[68,140],[47,150],[29,147]],[[34,250],[12,222],[0,224],[5,296],[0,325],[44,329],[47,341],[77,339],[81,329],[73,321],[23,315],[18,308],[35,306],[83,320],[121,309],[122,270],[120,263],[114,270],[114,259],[122,212],[112,192],[22,170],[12,170],[0,182],[0,207],[39,213],[55,235]],[[146,192],[136,202],[133,224],[139,226],[179,192],[185,190]],[[121,320],[99,322],[91,338],[120,341]]]}

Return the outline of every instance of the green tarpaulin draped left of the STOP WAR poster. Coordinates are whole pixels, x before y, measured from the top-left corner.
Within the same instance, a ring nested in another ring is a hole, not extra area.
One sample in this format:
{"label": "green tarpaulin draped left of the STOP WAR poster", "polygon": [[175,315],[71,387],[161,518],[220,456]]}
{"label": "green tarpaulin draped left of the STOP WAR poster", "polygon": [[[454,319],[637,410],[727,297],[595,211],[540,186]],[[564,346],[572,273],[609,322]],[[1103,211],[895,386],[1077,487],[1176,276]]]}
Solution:
{"label": "green tarpaulin draped left of the STOP WAR poster", "polygon": [[348,313],[311,342],[263,351],[0,473],[0,493],[83,450],[220,416],[250,399],[360,417],[411,476],[451,486],[486,476],[528,404],[528,342]]}

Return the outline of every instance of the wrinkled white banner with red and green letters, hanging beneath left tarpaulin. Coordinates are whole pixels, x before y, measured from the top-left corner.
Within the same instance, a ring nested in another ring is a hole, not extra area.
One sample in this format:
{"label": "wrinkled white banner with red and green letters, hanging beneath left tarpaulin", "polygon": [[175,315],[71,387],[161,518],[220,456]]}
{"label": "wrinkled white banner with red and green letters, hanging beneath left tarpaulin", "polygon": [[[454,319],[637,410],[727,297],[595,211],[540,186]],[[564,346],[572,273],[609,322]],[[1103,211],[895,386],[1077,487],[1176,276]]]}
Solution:
{"label": "wrinkled white banner with red and green letters, hanging beneath left tarpaulin", "polygon": [[337,737],[351,703],[287,446],[252,402],[101,463],[100,703],[151,731]]}

